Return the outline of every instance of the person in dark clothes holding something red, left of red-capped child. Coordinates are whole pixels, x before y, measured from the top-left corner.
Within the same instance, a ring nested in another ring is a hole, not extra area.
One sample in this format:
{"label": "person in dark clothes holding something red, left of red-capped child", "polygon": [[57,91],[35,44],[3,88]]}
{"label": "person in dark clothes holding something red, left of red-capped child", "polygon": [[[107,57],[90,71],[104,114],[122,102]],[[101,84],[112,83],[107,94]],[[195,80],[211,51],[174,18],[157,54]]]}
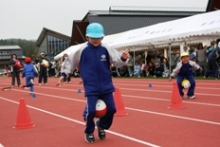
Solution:
{"label": "person in dark clothes holding something red, left of red-capped child", "polygon": [[21,86],[20,67],[15,66],[16,60],[18,60],[17,55],[16,54],[11,55],[10,65],[11,65],[11,77],[12,77],[11,86],[12,87],[15,86],[15,78],[17,80],[18,87]]}

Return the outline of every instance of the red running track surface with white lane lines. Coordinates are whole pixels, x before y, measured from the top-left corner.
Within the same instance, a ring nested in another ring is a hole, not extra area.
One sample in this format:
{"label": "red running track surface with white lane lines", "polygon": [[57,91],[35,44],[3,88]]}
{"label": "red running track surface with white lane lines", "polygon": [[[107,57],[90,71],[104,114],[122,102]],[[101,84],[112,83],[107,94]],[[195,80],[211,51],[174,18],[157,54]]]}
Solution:
{"label": "red running track surface with white lane lines", "polygon": [[[13,88],[0,95],[0,144],[5,147],[90,146],[84,141],[83,94],[78,94],[80,79],[56,87],[58,79],[48,85],[35,86],[37,98],[28,89]],[[184,99],[185,109],[170,110],[172,83],[159,79],[113,79],[122,93],[128,116],[115,117],[96,147],[207,147],[220,144],[219,81],[197,80],[196,99]],[[24,82],[24,81],[23,81]],[[152,88],[148,84],[152,84]],[[0,78],[0,87],[10,78]],[[18,102],[24,98],[34,128],[16,130]]]}

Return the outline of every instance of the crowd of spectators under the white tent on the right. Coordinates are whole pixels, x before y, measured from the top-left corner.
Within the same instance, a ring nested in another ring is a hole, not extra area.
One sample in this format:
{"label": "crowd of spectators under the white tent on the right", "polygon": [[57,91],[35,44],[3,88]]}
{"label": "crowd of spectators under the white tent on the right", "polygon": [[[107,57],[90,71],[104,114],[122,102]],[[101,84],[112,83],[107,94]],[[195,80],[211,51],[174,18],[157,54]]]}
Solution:
{"label": "crowd of spectators under the white tent on the right", "polygon": [[[204,70],[199,71],[193,69],[194,76],[202,76],[203,78],[214,77],[219,78],[219,53],[218,53],[219,39],[211,46],[203,46],[199,43],[197,47],[187,49],[185,46],[183,52],[189,53],[189,59],[198,63]],[[169,53],[168,53],[169,54]],[[145,58],[144,55],[132,57],[128,61],[125,68],[116,69],[112,67],[114,76],[128,76],[128,77],[169,77],[177,63],[180,61],[180,51],[171,51],[170,58],[165,58],[164,54],[159,51],[148,51]]]}

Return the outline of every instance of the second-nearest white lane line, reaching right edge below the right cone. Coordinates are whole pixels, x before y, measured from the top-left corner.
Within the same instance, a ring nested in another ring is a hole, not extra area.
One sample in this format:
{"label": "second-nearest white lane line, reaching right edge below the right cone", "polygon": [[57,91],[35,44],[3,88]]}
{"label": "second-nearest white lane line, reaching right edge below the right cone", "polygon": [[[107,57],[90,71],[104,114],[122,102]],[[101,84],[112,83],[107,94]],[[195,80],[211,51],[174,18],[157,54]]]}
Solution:
{"label": "second-nearest white lane line, reaching right edge below the right cone", "polygon": [[[22,91],[22,90],[17,90],[17,89],[13,89],[13,90],[19,91],[19,92],[29,93],[27,91]],[[71,100],[71,101],[86,102],[85,100],[79,100],[79,99],[75,99],[75,98],[68,98],[68,97],[62,97],[62,96],[56,96],[56,95],[50,95],[50,94],[44,94],[44,93],[36,93],[36,94],[43,95],[43,96],[48,96],[48,97],[52,97],[52,98],[58,98],[58,99],[66,99],[66,100]],[[208,120],[203,120],[203,119],[190,118],[190,117],[184,117],[184,116],[178,116],[178,115],[172,115],[172,114],[166,114],[166,113],[159,113],[159,112],[147,111],[147,110],[130,108],[130,107],[125,107],[125,109],[132,110],[132,111],[137,111],[137,112],[144,112],[144,113],[150,113],[150,114],[155,114],[155,115],[167,116],[167,117],[171,117],[171,118],[178,118],[178,119],[183,119],[183,120],[201,122],[201,123],[206,123],[206,124],[220,125],[219,122],[208,121]]]}

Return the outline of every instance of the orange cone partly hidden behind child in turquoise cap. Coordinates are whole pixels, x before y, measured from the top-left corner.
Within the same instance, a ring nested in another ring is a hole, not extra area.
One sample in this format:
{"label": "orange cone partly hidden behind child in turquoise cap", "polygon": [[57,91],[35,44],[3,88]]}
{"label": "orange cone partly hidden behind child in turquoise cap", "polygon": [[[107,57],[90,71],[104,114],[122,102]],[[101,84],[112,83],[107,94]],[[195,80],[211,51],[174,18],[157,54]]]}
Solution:
{"label": "orange cone partly hidden behind child in turquoise cap", "polygon": [[114,101],[115,101],[115,106],[116,106],[116,110],[117,110],[117,112],[115,113],[114,116],[128,115],[128,113],[125,111],[124,103],[123,103],[123,100],[121,97],[121,92],[120,92],[119,88],[115,89]]}

